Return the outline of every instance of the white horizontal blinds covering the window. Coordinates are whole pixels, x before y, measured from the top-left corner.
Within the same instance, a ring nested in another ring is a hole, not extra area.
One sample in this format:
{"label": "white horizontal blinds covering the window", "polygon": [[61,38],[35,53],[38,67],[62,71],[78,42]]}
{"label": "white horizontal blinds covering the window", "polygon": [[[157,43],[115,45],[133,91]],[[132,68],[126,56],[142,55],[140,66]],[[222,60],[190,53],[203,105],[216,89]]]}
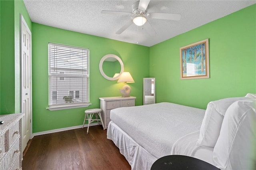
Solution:
{"label": "white horizontal blinds covering the window", "polygon": [[49,43],[48,52],[49,107],[89,103],[89,49]]}

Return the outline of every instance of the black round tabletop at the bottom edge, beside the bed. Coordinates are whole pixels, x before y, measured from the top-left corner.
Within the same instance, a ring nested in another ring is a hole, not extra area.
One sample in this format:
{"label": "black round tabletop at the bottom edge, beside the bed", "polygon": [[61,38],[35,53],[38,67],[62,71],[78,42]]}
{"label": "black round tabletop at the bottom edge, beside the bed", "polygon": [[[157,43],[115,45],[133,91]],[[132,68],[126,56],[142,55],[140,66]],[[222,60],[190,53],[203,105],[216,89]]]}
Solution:
{"label": "black round tabletop at the bottom edge, beside the bed", "polygon": [[203,160],[184,155],[168,155],[154,162],[151,170],[220,170]]}

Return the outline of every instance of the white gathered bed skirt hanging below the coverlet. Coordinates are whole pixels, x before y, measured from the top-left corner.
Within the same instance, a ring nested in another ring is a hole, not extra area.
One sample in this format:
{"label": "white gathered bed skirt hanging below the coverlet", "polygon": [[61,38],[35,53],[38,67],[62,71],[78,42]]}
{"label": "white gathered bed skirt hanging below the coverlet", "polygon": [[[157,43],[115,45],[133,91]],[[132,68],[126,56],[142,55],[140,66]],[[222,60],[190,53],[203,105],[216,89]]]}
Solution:
{"label": "white gathered bed skirt hanging below the coverlet", "polygon": [[158,159],[112,121],[108,124],[107,138],[116,144],[120,153],[128,160],[132,170],[150,170],[152,164]]}

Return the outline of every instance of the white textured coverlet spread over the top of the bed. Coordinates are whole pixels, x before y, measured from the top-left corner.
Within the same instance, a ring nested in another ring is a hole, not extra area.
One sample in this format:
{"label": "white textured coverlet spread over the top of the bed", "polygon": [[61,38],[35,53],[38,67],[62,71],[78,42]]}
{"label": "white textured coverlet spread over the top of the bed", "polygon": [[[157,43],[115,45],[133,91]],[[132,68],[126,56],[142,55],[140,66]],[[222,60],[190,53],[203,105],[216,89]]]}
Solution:
{"label": "white textured coverlet spread over the top of the bed", "polygon": [[200,130],[205,110],[174,103],[120,107],[110,119],[152,156],[170,155],[182,136]]}

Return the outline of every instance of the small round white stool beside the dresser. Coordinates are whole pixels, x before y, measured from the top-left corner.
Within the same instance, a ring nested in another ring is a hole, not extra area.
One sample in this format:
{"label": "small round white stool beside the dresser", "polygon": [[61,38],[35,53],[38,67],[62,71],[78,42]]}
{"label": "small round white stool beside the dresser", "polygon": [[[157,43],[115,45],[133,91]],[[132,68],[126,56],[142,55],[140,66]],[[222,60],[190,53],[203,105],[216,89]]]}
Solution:
{"label": "small round white stool beside the dresser", "polygon": [[[101,121],[103,130],[105,130],[100,112],[101,112],[101,109],[88,109],[88,110],[84,111],[84,113],[85,113],[84,123],[85,123],[85,120],[88,120],[87,134],[89,131],[90,123],[92,123],[93,121],[97,121],[98,125],[100,125],[99,121]],[[86,119],[86,115],[87,115],[87,119]],[[90,115],[90,117],[89,117],[89,115]],[[92,119],[93,115],[95,116],[96,119]],[[98,116],[100,117],[100,119],[98,119]],[[84,124],[83,124],[82,128],[84,128]]]}

